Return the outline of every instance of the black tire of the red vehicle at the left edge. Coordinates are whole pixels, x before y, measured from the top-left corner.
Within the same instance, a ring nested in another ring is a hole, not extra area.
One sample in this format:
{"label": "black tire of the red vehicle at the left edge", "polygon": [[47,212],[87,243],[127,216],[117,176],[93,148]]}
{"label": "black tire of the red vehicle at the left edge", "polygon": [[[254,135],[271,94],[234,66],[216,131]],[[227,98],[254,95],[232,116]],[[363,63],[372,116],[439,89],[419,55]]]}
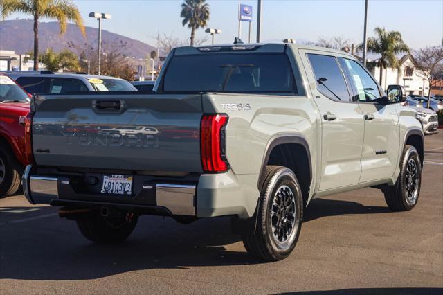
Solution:
{"label": "black tire of the red vehicle at the left edge", "polygon": [[0,145],[0,198],[17,193],[21,184],[20,177],[14,155],[4,145]]}

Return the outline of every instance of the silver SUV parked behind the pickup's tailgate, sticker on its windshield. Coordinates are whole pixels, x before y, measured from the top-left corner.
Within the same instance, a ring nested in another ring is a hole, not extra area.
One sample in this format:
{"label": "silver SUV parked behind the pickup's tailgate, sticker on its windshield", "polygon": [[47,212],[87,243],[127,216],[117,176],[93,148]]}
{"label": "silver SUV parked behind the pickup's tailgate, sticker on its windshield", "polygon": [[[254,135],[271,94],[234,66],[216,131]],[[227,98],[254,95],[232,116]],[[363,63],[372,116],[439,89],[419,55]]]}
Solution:
{"label": "silver SUV parked behind the pickup's tailgate, sticker on its windshield", "polygon": [[64,94],[89,91],[136,91],[126,80],[105,75],[53,73],[51,71],[7,71],[28,93]]}

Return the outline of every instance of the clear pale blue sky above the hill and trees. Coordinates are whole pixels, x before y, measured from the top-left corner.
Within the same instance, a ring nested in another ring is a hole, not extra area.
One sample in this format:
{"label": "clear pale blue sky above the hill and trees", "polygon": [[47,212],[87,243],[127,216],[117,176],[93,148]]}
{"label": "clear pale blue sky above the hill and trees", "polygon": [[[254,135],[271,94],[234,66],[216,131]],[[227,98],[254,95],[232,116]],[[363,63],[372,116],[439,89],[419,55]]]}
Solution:
{"label": "clear pale blue sky above the hill and trees", "polygon": [[[102,28],[113,33],[139,39],[155,45],[157,31],[181,39],[190,30],[181,25],[180,0],[75,0],[87,26],[97,21],[87,17],[91,11],[107,12]],[[238,0],[207,0],[210,6],[209,27],[220,28],[217,43],[231,43],[237,35]],[[242,3],[253,6],[256,0]],[[263,0],[262,41],[285,38],[316,41],[318,37],[343,36],[352,42],[363,40],[364,0]],[[20,15],[12,15],[8,19]],[[247,23],[243,23],[242,39],[247,40]],[[443,0],[370,0],[368,6],[368,35],[376,26],[399,30],[411,48],[440,44],[443,37]],[[197,36],[207,35],[204,30]],[[253,22],[255,39],[255,21]],[[209,39],[208,39],[209,41]]]}

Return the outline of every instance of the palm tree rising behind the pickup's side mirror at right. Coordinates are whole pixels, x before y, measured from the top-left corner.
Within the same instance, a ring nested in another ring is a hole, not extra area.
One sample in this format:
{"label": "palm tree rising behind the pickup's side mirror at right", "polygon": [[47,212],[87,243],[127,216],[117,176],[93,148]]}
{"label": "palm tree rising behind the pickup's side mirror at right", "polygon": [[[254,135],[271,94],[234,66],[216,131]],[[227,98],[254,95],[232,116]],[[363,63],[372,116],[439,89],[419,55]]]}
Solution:
{"label": "palm tree rising behind the pickup's side mirror at right", "polygon": [[401,39],[401,34],[395,30],[387,31],[385,28],[375,28],[377,37],[368,38],[368,51],[381,55],[378,66],[380,68],[380,85],[383,78],[383,69],[388,66],[397,67],[397,54],[409,52],[408,46]]}

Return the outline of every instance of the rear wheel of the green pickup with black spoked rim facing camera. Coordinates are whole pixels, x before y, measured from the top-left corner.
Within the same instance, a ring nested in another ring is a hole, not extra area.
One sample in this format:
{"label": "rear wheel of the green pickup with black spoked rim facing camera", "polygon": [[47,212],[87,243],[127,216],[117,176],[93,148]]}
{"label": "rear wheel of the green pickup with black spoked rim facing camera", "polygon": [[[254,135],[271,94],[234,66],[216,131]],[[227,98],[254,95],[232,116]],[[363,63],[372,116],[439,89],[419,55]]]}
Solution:
{"label": "rear wheel of the green pickup with black spoked rim facing camera", "polygon": [[[242,234],[243,244],[255,258],[282,260],[291,254],[300,235],[303,217],[300,184],[289,168],[267,166],[260,187],[257,225],[252,224]],[[282,205],[281,198],[288,200],[289,206]],[[275,228],[280,231],[274,231]]]}

